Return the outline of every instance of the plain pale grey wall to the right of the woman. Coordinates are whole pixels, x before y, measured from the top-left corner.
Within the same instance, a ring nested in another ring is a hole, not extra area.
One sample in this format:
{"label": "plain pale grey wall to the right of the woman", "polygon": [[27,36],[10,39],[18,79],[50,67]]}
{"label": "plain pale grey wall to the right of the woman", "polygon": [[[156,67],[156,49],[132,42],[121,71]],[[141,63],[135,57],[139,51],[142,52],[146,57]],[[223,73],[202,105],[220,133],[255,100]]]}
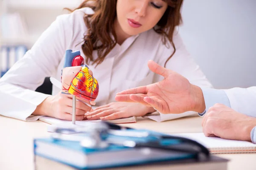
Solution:
{"label": "plain pale grey wall to the right of the woman", "polygon": [[185,0],[180,34],[215,88],[256,85],[256,0]]}

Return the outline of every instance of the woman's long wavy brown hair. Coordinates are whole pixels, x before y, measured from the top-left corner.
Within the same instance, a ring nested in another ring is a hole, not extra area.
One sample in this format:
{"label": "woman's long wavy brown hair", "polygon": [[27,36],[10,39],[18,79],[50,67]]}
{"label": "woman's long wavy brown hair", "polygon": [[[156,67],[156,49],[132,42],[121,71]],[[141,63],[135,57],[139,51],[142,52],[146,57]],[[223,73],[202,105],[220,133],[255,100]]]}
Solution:
{"label": "woman's long wavy brown hair", "polygon": [[[84,35],[84,43],[82,44],[82,50],[86,56],[86,63],[93,62],[93,64],[99,65],[103,62],[108,53],[116,45],[116,33],[113,29],[114,20],[116,18],[116,1],[117,0],[84,0],[81,5],[76,8],[90,7],[95,12],[94,14],[85,14],[84,22],[88,28],[87,33]],[[163,0],[168,3],[163,17],[154,27],[154,31],[163,36],[163,44],[166,45],[166,40],[171,42],[174,48],[172,55],[175,54],[176,48],[173,43],[173,34],[175,27],[182,23],[181,18],[181,6],[183,0]],[[68,9],[68,8],[66,8]],[[73,12],[74,10],[69,11]],[[114,40],[111,38],[111,34]],[[97,50],[98,58],[93,60],[93,51]]]}

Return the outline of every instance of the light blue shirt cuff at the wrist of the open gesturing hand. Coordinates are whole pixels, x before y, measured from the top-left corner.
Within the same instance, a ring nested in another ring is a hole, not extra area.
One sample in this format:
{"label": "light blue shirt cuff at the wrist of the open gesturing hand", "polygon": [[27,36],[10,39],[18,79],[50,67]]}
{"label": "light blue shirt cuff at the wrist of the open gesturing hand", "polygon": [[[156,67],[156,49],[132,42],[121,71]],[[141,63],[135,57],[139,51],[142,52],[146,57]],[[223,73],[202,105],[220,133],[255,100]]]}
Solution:
{"label": "light blue shirt cuff at the wrist of the open gesturing hand", "polygon": [[204,114],[209,110],[209,108],[215,105],[216,103],[220,103],[230,107],[230,101],[225,91],[213,88],[201,89],[203,91],[206,109],[203,113],[198,113],[199,116],[204,116]]}

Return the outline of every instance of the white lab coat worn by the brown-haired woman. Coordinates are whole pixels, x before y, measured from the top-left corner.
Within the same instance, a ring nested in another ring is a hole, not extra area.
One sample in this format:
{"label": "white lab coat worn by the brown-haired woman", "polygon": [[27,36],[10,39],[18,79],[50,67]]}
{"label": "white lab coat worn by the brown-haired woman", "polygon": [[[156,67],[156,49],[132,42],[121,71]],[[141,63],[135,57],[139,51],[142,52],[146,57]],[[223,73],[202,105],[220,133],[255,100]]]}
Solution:
{"label": "white lab coat worn by the brown-haired woman", "polygon": [[[37,120],[39,116],[32,116],[35,108],[48,95],[35,92],[45,77],[55,77],[61,80],[61,69],[64,65],[64,53],[67,49],[81,50],[84,33],[84,12],[93,13],[90,8],[82,8],[71,14],[64,14],[55,20],[44,31],[35,45],[25,56],[0,79],[0,114],[25,121]],[[166,68],[183,75],[195,85],[211,88],[198,65],[186,51],[180,36],[175,33],[175,55],[169,60]],[[164,65],[172,54],[173,48],[169,44],[163,45],[159,34],[152,29],[137,36],[129,37],[122,45],[116,45],[105,60],[96,68],[87,63],[93,71],[93,76],[99,82],[97,105],[114,102],[117,92],[158,82],[163,77],[152,73],[148,67],[149,59]],[[93,51],[93,57],[97,57]],[[59,88],[53,86],[52,95],[57,94]],[[180,115],[157,115],[150,118],[163,121],[186,116],[192,112]]]}

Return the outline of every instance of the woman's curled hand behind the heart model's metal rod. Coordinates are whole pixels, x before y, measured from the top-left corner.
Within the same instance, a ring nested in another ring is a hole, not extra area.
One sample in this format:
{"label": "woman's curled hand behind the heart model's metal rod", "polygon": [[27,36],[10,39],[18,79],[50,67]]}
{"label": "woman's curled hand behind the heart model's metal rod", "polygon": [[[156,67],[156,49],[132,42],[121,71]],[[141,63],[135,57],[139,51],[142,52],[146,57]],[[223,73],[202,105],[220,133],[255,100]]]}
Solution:
{"label": "woman's curled hand behind the heart model's metal rod", "polygon": [[[84,114],[93,109],[88,105],[95,105],[95,102],[86,101],[79,97],[76,97],[76,120],[83,120]],[[88,105],[86,105],[87,103]],[[58,93],[55,96],[49,96],[44,100],[33,115],[44,115],[55,117],[57,119],[72,120],[72,95]]]}

